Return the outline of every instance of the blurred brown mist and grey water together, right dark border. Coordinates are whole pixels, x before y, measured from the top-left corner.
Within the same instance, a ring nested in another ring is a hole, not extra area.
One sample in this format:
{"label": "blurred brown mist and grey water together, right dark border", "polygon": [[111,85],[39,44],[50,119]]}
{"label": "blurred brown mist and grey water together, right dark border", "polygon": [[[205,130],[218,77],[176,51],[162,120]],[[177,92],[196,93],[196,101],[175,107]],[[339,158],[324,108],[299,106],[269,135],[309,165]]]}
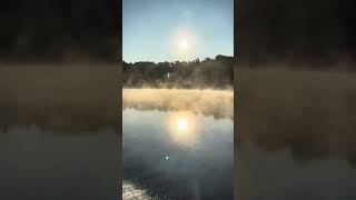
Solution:
{"label": "blurred brown mist and grey water together, right dark border", "polygon": [[239,68],[238,199],[354,199],[356,73]]}

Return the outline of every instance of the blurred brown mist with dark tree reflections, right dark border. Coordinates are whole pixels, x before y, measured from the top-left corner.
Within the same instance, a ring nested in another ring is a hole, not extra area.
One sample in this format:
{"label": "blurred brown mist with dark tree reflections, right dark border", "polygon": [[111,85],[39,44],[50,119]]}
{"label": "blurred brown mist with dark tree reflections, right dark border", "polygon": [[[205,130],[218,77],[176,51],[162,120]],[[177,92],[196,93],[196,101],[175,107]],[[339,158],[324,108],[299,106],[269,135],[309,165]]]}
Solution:
{"label": "blurred brown mist with dark tree reflections, right dark border", "polygon": [[236,144],[289,149],[295,160],[356,158],[356,74],[244,71]]}

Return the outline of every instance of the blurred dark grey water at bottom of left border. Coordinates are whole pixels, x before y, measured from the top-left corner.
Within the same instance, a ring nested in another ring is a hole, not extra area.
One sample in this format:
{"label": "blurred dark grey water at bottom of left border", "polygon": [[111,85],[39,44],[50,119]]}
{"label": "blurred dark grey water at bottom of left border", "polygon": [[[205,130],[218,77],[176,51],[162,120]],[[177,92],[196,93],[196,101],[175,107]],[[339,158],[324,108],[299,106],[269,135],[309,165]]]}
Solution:
{"label": "blurred dark grey water at bottom of left border", "polygon": [[0,131],[3,200],[118,199],[118,136],[113,130],[52,132],[36,126]]}

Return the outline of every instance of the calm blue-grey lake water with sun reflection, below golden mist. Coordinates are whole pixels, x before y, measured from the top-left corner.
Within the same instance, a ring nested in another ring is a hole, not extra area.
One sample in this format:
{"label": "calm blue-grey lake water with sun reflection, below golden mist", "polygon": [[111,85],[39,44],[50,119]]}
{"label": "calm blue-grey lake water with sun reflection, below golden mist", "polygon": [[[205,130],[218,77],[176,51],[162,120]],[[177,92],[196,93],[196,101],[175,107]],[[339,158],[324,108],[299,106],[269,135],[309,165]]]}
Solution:
{"label": "calm blue-grey lake water with sun reflection, below golden mist", "polygon": [[234,199],[234,123],[188,111],[122,113],[123,199]]}

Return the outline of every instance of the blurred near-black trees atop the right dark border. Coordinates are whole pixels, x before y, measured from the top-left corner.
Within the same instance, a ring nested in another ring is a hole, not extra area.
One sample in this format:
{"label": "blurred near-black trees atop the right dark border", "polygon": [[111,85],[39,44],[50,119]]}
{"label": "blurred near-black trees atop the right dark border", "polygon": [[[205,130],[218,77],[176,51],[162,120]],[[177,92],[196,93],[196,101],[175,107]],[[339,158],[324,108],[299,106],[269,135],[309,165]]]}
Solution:
{"label": "blurred near-black trees atop the right dark border", "polygon": [[235,6],[239,63],[323,70],[356,62],[354,1],[248,0]]}

